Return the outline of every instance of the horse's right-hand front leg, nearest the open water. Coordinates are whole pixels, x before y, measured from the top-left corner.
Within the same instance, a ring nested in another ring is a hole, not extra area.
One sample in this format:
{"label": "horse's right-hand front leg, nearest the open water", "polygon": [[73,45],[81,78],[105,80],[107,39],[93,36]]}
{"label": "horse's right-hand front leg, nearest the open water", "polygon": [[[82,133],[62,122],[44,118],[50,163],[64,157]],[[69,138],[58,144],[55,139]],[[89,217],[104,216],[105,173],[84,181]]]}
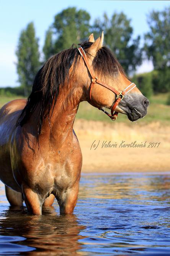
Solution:
{"label": "horse's right-hand front leg, nearest the open water", "polygon": [[60,214],[72,214],[77,203],[79,190],[79,181],[73,188],[67,189],[57,196],[57,201],[60,206]]}

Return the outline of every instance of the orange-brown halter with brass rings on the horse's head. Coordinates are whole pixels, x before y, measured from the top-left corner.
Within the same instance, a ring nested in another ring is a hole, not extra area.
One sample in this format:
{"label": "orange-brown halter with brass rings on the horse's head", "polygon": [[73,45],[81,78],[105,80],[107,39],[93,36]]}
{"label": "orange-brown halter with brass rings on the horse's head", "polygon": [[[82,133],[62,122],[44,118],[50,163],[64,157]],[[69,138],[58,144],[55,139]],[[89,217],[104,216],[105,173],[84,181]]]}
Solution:
{"label": "orange-brown halter with brass rings on the horse's head", "polygon": [[95,107],[97,107],[99,110],[103,111],[106,115],[108,115],[108,116],[111,118],[111,120],[113,120],[113,121],[116,120],[117,117],[118,117],[118,112],[114,111],[115,108],[116,108],[116,106],[118,106],[119,102],[120,102],[121,100],[123,100],[124,95],[125,95],[126,93],[128,93],[129,91],[131,91],[133,88],[135,88],[136,85],[135,85],[134,83],[131,83],[130,85],[128,85],[128,86],[120,93],[119,91],[117,91],[116,89],[114,89],[112,86],[110,86],[110,85],[108,85],[108,84],[106,84],[106,83],[103,83],[102,81],[98,80],[98,78],[93,75],[92,69],[91,69],[91,67],[90,67],[90,65],[89,65],[89,63],[88,63],[88,60],[87,60],[87,57],[86,57],[86,54],[85,54],[85,51],[83,50],[83,48],[82,48],[82,47],[79,47],[79,48],[77,48],[77,49],[78,49],[78,51],[80,52],[80,55],[82,56],[82,58],[83,58],[83,60],[84,60],[84,62],[85,62],[85,64],[86,64],[86,66],[87,66],[87,69],[88,69],[88,71],[89,71],[89,73],[90,73],[90,76],[91,76],[91,78],[92,78],[91,84],[90,84],[90,87],[89,87],[89,88],[90,88],[90,90],[89,90],[89,98],[90,98],[90,100],[92,101],[92,95],[91,95],[91,93],[92,93],[92,88],[93,88],[93,86],[95,85],[95,83],[98,83],[99,85],[102,85],[102,86],[104,86],[105,88],[108,88],[109,90],[113,91],[113,92],[116,94],[116,101],[115,101],[115,103],[113,103],[113,106],[111,107],[111,115],[110,115],[107,111],[105,111],[104,108],[98,108],[98,107],[95,105],[95,103],[94,103],[93,101],[92,101],[92,105],[95,106]]}

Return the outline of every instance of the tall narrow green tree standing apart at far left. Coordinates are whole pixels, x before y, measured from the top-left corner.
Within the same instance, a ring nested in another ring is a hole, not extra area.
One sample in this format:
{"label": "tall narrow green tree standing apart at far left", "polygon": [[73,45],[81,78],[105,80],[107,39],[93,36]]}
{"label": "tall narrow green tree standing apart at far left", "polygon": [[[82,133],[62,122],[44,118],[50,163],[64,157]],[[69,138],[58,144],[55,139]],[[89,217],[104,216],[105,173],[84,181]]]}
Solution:
{"label": "tall narrow green tree standing apart at far left", "polygon": [[33,22],[29,23],[25,30],[21,31],[16,56],[18,61],[17,72],[20,85],[24,88],[25,96],[31,92],[34,76],[40,66],[38,38],[35,36]]}

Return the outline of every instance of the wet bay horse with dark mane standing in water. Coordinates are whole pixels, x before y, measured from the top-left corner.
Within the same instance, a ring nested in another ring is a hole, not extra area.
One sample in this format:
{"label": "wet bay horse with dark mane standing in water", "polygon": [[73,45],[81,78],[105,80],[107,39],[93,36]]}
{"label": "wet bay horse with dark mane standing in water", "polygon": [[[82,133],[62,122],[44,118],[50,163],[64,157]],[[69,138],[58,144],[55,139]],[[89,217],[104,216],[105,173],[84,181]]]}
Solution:
{"label": "wet bay horse with dark mane standing in water", "polygon": [[146,115],[149,100],[103,46],[103,38],[103,32],[96,40],[91,34],[80,47],[49,58],[27,101],[13,100],[1,108],[0,180],[12,206],[25,201],[29,213],[41,215],[42,206],[56,198],[60,214],[73,213],[82,168],[73,125],[82,101],[110,109],[112,120],[118,113],[131,121]]}

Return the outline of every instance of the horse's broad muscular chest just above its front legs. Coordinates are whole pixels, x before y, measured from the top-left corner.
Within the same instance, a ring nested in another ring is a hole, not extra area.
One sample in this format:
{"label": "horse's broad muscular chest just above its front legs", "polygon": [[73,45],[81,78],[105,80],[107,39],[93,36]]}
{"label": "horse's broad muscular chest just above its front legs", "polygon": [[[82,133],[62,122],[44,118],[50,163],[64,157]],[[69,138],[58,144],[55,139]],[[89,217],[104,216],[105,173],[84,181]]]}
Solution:
{"label": "horse's broad muscular chest just above its front legs", "polygon": [[[67,154],[66,154],[67,153]],[[71,188],[81,170],[81,158],[62,151],[55,156],[49,152],[42,154],[36,161],[26,161],[26,168],[20,168],[20,176],[33,190],[42,194],[59,193]],[[79,155],[78,155],[79,156]]]}

